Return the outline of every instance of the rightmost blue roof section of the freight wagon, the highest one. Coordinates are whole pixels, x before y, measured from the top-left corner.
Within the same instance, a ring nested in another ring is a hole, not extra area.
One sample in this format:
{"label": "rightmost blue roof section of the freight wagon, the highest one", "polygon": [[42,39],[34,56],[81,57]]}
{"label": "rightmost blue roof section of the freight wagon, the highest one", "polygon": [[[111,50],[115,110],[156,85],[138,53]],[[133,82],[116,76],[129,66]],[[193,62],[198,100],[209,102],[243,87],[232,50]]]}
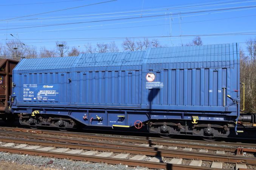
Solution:
{"label": "rightmost blue roof section of the freight wagon, the highest one", "polygon": [[148,69],[233,68],[236,43],[163,47],[148,50],[143,63]]}

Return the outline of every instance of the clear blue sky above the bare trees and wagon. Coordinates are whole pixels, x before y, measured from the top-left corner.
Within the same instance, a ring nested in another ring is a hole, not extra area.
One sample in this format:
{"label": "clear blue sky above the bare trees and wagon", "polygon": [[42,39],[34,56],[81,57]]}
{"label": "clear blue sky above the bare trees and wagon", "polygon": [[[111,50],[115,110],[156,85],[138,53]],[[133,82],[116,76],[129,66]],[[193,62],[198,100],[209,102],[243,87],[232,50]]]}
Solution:
{"label": "clear blue sky above the bare trees and wagon", "polygon": [[[148,37],[158,39],[162,45],[179,46],[194,38],[186,35],[256,33],[256,0],[106,1],[109,0],[3,1],[0,5],[0,42],[5,44],[6,39],[20,39],[27,46],[39,49],[41,46],[54,48],[55,41],[67,41],[70,47],[84,50],[87,43],[115,41],[122,49],[125,37]],[[100,2],[106,3],[91,5]],[[78,6],[84,7],[73,8]],[[66,8],[73,9],[56,11]],[[40,14],[44,12],[49,13]],[[152,17],[154,15],[160,16]],[[49,26],[52,24],[60,25]],[[255,36],[201,38],[204,44],[221,44],[244,42]],[[134,38],[134,41],[139,39],[143,38]]]}

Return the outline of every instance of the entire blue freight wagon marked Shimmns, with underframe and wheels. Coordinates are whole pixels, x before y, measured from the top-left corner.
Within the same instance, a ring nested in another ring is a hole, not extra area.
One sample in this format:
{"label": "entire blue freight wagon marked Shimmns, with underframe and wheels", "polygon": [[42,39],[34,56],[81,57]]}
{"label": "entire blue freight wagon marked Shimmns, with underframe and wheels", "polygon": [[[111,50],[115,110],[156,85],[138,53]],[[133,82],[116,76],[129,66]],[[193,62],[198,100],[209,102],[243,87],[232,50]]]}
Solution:
{"label": "entire blue freight wagon marked Shimmns, with underframe and wheels", "polygon": [[239,46],[22,59],[12,87],[11,111],[31,127],[147,126],[167,136],[225,137],[239,118]]}

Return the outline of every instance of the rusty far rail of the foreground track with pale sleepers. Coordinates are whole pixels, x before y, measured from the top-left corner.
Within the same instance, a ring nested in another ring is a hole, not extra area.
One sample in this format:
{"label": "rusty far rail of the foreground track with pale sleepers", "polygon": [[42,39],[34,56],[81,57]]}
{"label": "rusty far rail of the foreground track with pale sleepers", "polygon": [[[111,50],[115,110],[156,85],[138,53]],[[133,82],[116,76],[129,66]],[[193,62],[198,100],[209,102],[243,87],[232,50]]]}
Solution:
{"label": "rusty far rail of the foreground track with pale sleepers", "polygon": [[[31,144],[40,146],[54,146],[54,147],[65,147],[69,149],[84,149],[84,150],[98,150],[98,151],[108,151],[117,153],[130,153],[139,154],[147,156],[163,156],[168,158],[179,157],[182,159],[200,159],[202,161],[221,161],[226,163],[247,163],[251,165],[256,165],[256,158],[250,158],[245,156],[235,156],[235,155],[219,155],[216,153],[199,153],[199,152],[188,152],[184,150],[168,150],[159,149],[154,147],[143,147],[143,146],[131,146],[131,147],[117,147],[115,145],[105,143],[104,146],[90,146],[83,144],[71,144],[71,143],[59,143],[52,141],[40,141],[40,140],[25,140],[17,138],[0,138],[0,141],[8,143],[19,143],[19,144]],[[92,143],[91,143],[92,144]]]}

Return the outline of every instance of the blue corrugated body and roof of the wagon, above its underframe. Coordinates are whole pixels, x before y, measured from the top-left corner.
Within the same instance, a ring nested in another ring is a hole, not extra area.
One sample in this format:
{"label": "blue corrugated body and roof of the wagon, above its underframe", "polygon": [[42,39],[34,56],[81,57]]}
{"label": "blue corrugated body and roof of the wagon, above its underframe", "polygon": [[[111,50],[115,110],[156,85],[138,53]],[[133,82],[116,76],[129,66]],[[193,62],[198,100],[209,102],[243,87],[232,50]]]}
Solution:
{"label": "blue corrugated body and roof of the wagon, above its underframe", "polygon": [[[193,110],[193,106],[223,106],[223,88],[227,94],[238,97],[239,93],[234,92],[239,89],[237,67],[237,44],[23,59],[14,69],[14,91],[21,94],[21,103],[53,101],[62,105],[143,109],[192,106],[186,109]],[[163,83],[163,87],[147,89],[148,73],[154,73],[154,82]],[[38,101],[36,97],[23,100],[24,85],[33,84],[40,88],[54,85],[59,88],[59,97],[49,101]],[[225,101],[226,105],[232,102],[227,97]]]}

